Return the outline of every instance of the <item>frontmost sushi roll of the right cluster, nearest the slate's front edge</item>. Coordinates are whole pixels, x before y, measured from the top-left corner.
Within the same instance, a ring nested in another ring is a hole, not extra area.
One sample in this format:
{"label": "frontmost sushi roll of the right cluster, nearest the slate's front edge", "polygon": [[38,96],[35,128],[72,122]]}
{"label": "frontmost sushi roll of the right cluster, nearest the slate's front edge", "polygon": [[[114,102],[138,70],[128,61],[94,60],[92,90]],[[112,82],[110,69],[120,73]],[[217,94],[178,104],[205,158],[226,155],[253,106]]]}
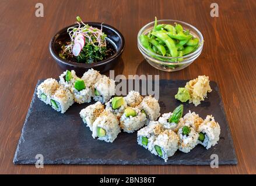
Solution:
{"label": "frontmost sushi roll of the right cluster, nearest the slate's front edge", "polygon": [[156,140],[153,142],[151,153],[158,155],[167,162],[170,156],[173,156],[178,149],[178,135],[172,130],[164,130],[157,135]]}

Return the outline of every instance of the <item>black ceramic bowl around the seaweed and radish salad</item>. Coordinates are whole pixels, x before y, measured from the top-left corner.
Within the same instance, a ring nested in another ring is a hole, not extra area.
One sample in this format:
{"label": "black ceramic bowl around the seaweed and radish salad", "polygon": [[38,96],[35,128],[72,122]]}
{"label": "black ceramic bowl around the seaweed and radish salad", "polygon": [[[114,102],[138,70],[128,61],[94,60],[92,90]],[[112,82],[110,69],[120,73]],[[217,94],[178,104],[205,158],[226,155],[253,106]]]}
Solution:
{"label": "black ceramic bowl around the seaweed and radish salad", "polygon": [[[85,24],[92,27],[101,28],[101,23],[86,22]],[[108,24],[102,24],[102,30],[107,35],[106,40],[108,45],[112,45],[111,48],[113,48],[115,51],[114,54],[109,58],[91,64],[77,63],[75,61],[60,58],[59,52],[61,51],[61,45],[65,44],[66,41],[70,41],[69,34],[66,32],[69,27],[78,27],[78,24],[73,24],[58,31],[58,33],[52,37],[49,46],[52,58],[56,60],[58,65],[63,70],[75,70],[76,74],[82,75],[90,68],[103,73],[104,71],[113,69],[113,67],[117,65],[119,59],[121,58],[122,51],[124,51],[124,37],[120,31]]]}

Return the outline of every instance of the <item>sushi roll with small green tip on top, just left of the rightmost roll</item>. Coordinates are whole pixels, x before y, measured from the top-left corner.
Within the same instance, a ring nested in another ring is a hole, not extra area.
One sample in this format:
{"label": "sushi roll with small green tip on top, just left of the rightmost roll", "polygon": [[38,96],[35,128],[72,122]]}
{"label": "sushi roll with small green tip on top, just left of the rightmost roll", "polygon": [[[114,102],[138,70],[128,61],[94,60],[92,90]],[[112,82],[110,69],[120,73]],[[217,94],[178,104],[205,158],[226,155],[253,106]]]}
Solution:
{"label": "sushi roll with small green tip on top, just left of the rightmost roll", "polygon": [[188,153],[197,146],[199,134],[193,127],[185,125],[178,130],[178,137],[180,138],[178,149]]}

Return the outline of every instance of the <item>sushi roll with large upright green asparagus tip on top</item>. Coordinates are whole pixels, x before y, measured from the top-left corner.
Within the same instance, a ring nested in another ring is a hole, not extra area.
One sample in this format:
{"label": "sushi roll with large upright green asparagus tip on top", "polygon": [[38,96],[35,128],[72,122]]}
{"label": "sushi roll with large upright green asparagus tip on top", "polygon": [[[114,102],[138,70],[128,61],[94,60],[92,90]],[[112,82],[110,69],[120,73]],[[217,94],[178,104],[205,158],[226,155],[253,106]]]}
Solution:
{"label": "sushi roll with large upright green asparagus tip on top", "polygon": [[173,110],[173,113],[164,113],[162,117],[159,117],[159,123],[163,124],[166,129],[177,129],[183,125],[183,105],[178,106]]}

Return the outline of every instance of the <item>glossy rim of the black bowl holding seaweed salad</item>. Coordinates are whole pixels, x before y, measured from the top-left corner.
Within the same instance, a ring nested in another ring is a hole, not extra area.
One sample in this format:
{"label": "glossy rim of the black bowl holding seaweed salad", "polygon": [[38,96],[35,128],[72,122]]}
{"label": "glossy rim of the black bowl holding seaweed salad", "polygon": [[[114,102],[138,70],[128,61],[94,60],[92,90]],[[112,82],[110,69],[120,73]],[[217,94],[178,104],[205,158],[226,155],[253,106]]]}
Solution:
{"label": "glossy rim of the black bowl holding seaweed salad", "polygon": [[110,26],[109,24],[99,23],[99,22],[84,22],[84,23],[88,24],[90,26],[101,26],[101,24],[102,24],[103,27],[106,27],[107,29],[110,29],[110,30],[114,31],[115,33],[117,33],[118,37],[121,38],[121,47],[117,50],[117,52],[114,53],[114,55],[110,56],[110,58],[107,58],[105,60],[101,60],[100,62],[95,62],[95,63],[90,63],[90,64],[89,63],[76,63],[76,62],[71,62],[71,61],[66,60],[66,59],[62,59],[62,58],[59,57],[59,55],[57,55],[57,53],[55,53],[54,48],[53,48],[53,43],[55,41],[55,38],[58,37],[59,34],[65,32],[69,27],[78,26],[78,24],[71,24],[71,25],[59,30],[56,34],[54,34],[54,37],[51,38],[49,48],[50,48],[50,53],[51,53],[52,58],[54,58],[58,62],[61,62],[65,65],[68,65],[68,66],[81,67],[81,68],[86,68],[87,69],[87,68],[90,68],[90,67],[101,66],[101,65],[104,65],[106,63],[109,63],[112,60],[118,58],[122,54],[122,52],[124,51],[125,41],[124,41],[124,36],[121,34],[120,31],[117,30],[117,28],[114,28],[113,26]]}

